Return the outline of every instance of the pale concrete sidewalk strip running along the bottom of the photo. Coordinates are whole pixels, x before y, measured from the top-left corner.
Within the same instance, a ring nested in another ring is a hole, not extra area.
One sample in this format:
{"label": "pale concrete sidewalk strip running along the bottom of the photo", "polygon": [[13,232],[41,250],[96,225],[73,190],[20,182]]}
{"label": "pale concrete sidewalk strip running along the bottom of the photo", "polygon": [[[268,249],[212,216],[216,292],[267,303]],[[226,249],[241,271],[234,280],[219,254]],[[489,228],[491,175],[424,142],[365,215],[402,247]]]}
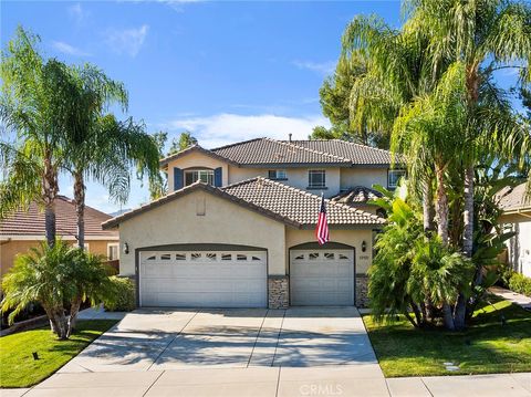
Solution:
{"label": "pale concrete sidewalk strip running along the bottom of the photo", "polygon": [[2,389],[0,395],[531,397],[531,373],[385,379],[366,369],[343,365],[55,374],[31,389]]}

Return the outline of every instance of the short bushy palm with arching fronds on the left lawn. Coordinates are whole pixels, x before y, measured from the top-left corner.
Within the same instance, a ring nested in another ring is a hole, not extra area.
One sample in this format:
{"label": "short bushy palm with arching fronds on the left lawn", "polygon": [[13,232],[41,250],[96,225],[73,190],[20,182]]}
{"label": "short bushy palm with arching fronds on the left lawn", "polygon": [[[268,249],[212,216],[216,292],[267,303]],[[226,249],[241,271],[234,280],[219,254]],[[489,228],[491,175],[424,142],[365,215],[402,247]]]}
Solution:
{"label": "short bushy palm with arching fronds on the left lawn", "polygon": [[[90,300],[95,305],[104,299],[113,300],[113,291],[102,258],[58,240],[53,245],[42,243],[17,257],[2,280],[4,297],[0,309],[13,309],[9,315],[12,323],[28,304],[39,302],[52,331],[60,339],[66,339],[75,325],[76,302]],[[69,317],[64,310],[66,302],[71,305]]]}

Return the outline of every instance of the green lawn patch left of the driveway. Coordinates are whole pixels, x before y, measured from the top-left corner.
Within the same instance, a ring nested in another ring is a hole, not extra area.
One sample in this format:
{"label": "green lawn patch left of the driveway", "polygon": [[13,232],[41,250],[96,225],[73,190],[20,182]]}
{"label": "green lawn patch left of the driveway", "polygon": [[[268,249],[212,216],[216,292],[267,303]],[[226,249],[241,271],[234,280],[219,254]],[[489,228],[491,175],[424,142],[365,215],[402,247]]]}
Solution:
{"label": "green lawn patch left of the driveway", "polygon": [[[69,341],[58,341],[49,327],[23,331],[0,338],[0,387],[29,387],[52,375],[115,320],[79,321]],[[38,352],[34,361],[32,352]]]}

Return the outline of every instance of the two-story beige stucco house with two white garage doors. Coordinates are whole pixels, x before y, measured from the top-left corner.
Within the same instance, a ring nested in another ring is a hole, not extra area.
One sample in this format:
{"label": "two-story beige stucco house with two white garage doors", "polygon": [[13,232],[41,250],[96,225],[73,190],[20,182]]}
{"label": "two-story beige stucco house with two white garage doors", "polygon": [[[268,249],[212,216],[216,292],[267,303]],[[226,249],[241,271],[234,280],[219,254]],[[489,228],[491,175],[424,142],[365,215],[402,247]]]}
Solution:
{"label": "two-story beige stucco house with two white garage doors", "polygon": [[[389,152],[343,140],[251,139],[160,160],[165,197],[103,223],[139,306],[364,305],[373,184],[404,175]],[[331,241],[314,237],[321,194]]]}

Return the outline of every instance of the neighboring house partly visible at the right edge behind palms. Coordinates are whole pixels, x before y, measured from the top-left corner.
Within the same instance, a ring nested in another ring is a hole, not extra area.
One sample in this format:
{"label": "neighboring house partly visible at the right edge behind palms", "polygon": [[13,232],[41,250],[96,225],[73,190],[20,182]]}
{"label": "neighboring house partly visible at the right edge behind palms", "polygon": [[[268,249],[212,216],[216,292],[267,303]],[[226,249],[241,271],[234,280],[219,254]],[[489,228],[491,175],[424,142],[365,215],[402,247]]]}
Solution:
{"label": "neighboring house partly visible at the right edge behind palms", "polygon": [[531,198],[525,195],[525,184],[506,188],[498,196],[503,210],[500,223],[517,233],[507,242],[507,261],[514,271],[531,278]]}

